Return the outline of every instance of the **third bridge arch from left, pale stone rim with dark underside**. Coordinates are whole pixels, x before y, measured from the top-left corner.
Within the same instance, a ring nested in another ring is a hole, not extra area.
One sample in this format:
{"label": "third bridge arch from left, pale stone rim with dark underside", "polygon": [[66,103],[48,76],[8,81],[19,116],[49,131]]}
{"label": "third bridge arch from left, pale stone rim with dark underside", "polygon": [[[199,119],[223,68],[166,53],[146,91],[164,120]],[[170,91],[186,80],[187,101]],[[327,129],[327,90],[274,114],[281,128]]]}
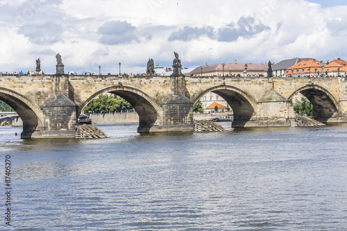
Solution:
{"label": "third bridge arch from left, pale stone rim with dark underside", "polygon": [[203,92],[195,96],[192,100],[193,103],[196,103],[198,99],[201,99],[202,96],[208,94],[208,92],[214,92],[221,96],[232,108],[234,112],[234,121],[232,126],[242,127],[251,120],[251,118],[256,117],[256,107],[257,103],[253,97],[244,92],[242,89],[233,87],[230,85],[218,85],[205,89]]}

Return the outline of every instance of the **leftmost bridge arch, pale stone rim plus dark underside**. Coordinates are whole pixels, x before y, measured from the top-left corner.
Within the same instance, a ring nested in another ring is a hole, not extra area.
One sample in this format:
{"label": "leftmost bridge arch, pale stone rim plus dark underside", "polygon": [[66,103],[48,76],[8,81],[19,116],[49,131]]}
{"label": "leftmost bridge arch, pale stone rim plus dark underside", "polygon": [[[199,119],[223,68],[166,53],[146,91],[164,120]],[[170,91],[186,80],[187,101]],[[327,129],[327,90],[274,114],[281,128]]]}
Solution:
{"label": "leftmost bridge arch, pale stone rim plus dark underside", "polygon": [[10,105],[23,121],[22,138],[30,138],[35,130],[42,129],[42,110],[26,96],[0,87],[0,100]]}

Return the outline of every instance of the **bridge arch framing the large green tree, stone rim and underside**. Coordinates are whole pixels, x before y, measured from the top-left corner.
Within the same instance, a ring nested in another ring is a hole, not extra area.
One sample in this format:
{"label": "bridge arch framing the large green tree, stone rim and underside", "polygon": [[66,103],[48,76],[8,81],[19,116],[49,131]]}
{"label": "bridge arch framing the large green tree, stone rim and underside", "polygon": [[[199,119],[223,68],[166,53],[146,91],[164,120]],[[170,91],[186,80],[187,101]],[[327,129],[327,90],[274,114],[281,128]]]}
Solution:
{"label": "bridge arch framing the large green tree, stone rim and underside", "polygon": [[139,115],[139,132],[149,132],[152,126],[158,125],[161,121],[161,108],[158,103],[146,93],[142,92],[135,87],[128,87],[124,85],[105,87],[104,89],[95,92],[90,96],[78,109],[78,114],[81,114],[83,108],[87,106],[90,101],[103,93],[112,93],[121,96],[121,98],[128,101],[133,108],[135,108]]}

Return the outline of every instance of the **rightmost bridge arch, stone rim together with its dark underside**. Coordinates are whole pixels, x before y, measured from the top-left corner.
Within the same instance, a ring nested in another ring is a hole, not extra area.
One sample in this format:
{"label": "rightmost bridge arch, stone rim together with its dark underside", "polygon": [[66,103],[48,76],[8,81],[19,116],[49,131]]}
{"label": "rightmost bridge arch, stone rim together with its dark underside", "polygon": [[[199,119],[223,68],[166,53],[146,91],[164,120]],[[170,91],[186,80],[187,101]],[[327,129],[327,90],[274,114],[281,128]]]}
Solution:
{"label": "rightmost bridge arch, stone rim together with its dark underside", "polygon": [[305,96],[313,105],[316,112],[316,120],[321,122],[327,122],[335,114],[339,113],[339,103],[335,97],[324,87],[319,85],[305,85],[299,89],[296,89],[290,96],[289,100],[294,97],[295,94],[301,93]]}

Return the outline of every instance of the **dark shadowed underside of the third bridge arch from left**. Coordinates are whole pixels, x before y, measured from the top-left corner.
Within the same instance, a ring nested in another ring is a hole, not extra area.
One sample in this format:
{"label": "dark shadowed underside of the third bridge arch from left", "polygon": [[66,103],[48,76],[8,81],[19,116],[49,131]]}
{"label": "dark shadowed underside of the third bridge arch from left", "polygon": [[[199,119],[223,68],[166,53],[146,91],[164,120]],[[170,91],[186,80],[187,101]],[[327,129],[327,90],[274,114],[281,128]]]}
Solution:
{"label": "dark shadowed underside of the third bridge arch from left", "polygon": [[242,94],[230,89],[217,89],[212,92],[221,96],[232,108],[234,113],[232,127],[244,127],[255,115],[253,106]]}

